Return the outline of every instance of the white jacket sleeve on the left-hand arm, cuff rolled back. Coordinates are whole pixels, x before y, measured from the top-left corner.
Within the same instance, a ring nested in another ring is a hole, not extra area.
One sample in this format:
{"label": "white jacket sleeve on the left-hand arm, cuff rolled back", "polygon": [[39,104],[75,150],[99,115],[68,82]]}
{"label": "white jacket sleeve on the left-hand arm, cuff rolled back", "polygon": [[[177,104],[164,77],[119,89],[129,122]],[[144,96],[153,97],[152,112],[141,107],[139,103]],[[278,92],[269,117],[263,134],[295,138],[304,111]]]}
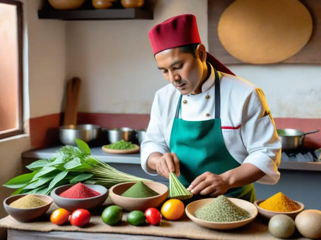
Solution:
{"label": "white jacket sleeve on the left-hand arm, cuff rolled back", "polygon": [[160,152],[161,154],[169,152],[162,130],[158,92],[155,94],[150,121],[141,143],[141,165],[143,170],[150,175],[157,175],[157,172],[147,165],[148,157],[154,152]]}

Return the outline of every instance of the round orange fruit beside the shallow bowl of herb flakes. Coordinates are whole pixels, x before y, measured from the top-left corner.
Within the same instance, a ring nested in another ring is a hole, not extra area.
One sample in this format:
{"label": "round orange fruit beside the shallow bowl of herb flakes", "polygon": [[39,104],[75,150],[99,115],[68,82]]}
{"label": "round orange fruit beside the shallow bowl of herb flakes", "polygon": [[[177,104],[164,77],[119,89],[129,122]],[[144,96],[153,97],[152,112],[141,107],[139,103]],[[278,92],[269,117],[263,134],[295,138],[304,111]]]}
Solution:
{"label": "round orange fruit beside the shallow bowl of herb flakes", "polygon": [[185,206],[178,199],[169,199],[161,207],[161,214],[167,220],[178,220],[184,215]]}

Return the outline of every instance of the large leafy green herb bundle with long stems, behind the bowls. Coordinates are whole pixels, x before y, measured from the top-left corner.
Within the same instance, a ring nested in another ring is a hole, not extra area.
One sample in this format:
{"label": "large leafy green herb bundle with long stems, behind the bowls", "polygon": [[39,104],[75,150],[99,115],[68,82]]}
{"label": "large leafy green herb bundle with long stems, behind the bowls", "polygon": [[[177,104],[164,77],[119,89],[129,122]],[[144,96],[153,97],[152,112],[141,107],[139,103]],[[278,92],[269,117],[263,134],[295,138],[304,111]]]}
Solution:
{"label": "large leafy green herb bundle with long stems, behind the bowls", "polygon": [[40,159],[26,167],[31,173],[9,180],[4,187],[15,188],[12,195],[45,194],[65,184],[99,184],[110,188],[118,183],[151,181],[120,172],[91,155],[88,145],[75,139],[78,147],[64,146],[53,159]]}

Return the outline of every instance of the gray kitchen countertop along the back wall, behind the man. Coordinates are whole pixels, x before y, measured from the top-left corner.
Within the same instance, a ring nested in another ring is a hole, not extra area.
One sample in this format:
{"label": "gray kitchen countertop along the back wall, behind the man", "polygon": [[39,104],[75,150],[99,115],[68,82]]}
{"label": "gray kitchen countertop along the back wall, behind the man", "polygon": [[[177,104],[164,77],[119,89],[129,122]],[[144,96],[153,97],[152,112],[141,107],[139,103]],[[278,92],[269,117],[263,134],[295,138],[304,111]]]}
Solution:
{"label": "gray kitchen countertop along the back wall, behind the man", "polygon": [[[45,148],[32,150],[22,153],[23,158],[35,158],[35,159],[50,159],[54,158],[56,151],[60,149],[58,147]],[[97,157],[100,161],[105,163],[119,163],[119,164],[140,164],[140,154],[108,154],[105,153],[101,147],[91,148],[91,154]],[[279,169],[286,170],[301,170],[301,171],[320,171],[321,162],[294,162],[294,161],[281,161]]]}

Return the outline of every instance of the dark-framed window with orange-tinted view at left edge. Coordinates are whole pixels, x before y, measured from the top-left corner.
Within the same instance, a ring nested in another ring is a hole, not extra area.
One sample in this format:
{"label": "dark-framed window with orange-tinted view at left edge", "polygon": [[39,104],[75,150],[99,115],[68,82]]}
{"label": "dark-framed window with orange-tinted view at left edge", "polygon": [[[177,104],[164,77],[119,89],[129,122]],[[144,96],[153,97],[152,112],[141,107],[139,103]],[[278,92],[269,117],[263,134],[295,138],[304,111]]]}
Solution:
{"label": "dark-framed window with orange-tinted view at left edge", "polygon": [[0,139],[23,133],[22,3],[0,0]]}

